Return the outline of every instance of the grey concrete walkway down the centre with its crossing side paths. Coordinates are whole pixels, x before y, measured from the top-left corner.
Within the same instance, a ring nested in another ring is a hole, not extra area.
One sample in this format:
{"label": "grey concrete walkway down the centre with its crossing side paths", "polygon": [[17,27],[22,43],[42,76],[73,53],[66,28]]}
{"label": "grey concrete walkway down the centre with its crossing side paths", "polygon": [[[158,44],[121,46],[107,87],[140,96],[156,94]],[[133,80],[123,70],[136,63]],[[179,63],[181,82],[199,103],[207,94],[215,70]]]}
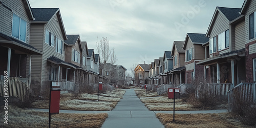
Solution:
{"label": "grey concrete walkway down the centre with its crossing side paths", "polygon": [[[49,112],[48,109],[34,109],[43,112]],[[227,110],[201,110],[201,111],[175,111],[179,114],[197,114],[197,113],[225,113]],[[108,113],[109,117],[105,120],[102,127],[164,127],[156,113],[170,113],[173,111],[148,111],[144,103],[136,96],[134,89],[126,90],[123,98],[118,102],[112,111],[73,111],[60,110],[59,113]]]}

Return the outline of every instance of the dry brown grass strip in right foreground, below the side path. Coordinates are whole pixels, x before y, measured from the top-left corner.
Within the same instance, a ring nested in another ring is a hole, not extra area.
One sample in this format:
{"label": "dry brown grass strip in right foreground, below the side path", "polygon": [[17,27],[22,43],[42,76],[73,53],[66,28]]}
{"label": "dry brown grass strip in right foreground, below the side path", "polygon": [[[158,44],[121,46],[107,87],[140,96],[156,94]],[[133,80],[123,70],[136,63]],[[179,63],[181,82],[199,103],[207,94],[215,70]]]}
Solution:
{"label": "dry brown grass strip in right foreground, below the side path", "polygon": [[165,127],[250,127],[229,113],[175,114],[175,122],[173,114],[157,113],[156,116]]}

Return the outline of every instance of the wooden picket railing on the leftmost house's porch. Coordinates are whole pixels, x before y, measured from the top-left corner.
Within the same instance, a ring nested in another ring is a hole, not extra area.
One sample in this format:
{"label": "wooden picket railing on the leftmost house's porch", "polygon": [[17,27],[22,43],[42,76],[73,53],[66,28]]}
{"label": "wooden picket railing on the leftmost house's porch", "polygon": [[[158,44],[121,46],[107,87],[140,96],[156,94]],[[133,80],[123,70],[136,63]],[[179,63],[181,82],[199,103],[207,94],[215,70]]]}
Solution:
{"label": "wooden picket railing on the leftmost house's porch", "polygon": [[[4,95],[4,80],[0,80],[0,96]],[[18,98],[20,101],[24,102],[29,99],[29,84],[28,80],[20,80],[18,77],[10,77],[8,79],[8,96],[13,96]]]}

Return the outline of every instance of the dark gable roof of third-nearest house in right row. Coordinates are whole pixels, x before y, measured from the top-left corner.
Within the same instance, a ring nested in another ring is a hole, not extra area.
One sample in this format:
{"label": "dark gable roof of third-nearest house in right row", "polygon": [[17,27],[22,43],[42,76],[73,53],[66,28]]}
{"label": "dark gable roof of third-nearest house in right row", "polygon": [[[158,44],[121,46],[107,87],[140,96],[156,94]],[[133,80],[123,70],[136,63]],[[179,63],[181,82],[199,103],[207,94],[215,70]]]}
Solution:
{"label": "dark gable roof of third-nearest house in right row", "polygon": [[205,42],[209,41],[209,37],[205,37],[205,34],[202,34],[202,33],[187,33],[185,41],[184,41],[184,45],[183,45],[184,50],[186,49],[188,39],[190,39],[193,44],[199,44],[199,45],[202,45]]}

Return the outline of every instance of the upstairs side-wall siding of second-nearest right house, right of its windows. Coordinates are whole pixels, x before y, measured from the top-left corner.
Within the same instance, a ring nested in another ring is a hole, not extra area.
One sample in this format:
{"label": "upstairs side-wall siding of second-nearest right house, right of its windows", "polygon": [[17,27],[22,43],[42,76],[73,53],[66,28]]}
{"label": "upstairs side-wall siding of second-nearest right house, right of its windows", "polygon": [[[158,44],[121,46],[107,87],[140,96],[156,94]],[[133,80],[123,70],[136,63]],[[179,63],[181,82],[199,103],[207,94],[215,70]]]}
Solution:
{"label": "upstairs side-wall siding of second-nearest right house, right of its windows", "polygon": [[245,48],[245,22],[239,23],[234,28],[234,50]]}

